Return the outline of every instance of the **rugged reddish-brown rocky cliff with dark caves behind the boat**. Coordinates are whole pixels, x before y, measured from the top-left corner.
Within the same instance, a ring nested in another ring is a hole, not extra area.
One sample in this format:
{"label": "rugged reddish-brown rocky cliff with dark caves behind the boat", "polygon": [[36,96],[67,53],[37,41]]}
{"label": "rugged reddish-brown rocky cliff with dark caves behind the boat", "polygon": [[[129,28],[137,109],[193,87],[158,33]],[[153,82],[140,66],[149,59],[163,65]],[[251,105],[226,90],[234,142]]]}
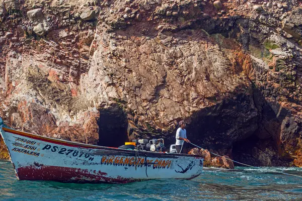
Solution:
{"label": "rugged reddish-brown rocky cliff with dark caves behind the boat", "polygon": [[302,166],[301,1],[0,0],[0,115],[106,146],[195,144]]}

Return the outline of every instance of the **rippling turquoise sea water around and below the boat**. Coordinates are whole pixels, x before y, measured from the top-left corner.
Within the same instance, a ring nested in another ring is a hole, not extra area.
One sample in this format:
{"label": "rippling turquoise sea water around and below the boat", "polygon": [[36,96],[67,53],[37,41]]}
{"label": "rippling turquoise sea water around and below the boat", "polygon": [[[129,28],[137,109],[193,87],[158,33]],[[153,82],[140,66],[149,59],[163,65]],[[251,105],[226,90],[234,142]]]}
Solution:
{"label": "rippling turquoise sea water around and below the boat", "polygon": [[159,179],[128,184],[75,184],[17,180],[0,161],[0,200],[302,200],[302,168],[205,168],[193,180]]}

